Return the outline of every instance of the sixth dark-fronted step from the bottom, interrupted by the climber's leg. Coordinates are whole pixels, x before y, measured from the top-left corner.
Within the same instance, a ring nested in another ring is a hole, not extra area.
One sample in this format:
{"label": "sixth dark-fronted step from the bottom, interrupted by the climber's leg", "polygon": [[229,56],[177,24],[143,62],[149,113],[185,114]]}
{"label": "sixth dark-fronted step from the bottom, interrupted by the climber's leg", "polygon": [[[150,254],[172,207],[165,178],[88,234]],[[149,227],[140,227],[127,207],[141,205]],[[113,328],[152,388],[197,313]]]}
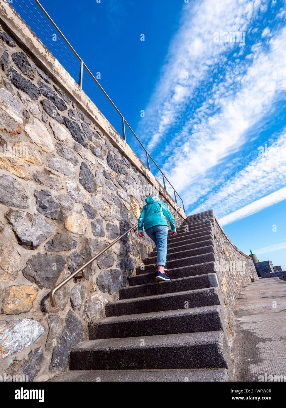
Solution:
{"label": "sixth dark-fronted step from the bottom, interrupted by the climber's leg", "polygon": [[[188,256],[185,258],[181,259],[174,259],[173,261],[168,261],[168,270],[169,269],[175,269],[175,268],[182,268],[184,266],[190,266],[190,265],[196,265],[200,263],[205,263],[205,262],[215,262],[215,249],[213,247],[210,247],[210,251],[207,253],[202,253],[201,255],[195,255],[195,256]],[[136,266],[136,275],[142,275],[144,273],[148,272],[156,272],[157,271],[157,265],[156,264],[150,264],[150,265],[144,265],[144,269],[141,269],[141,266]]]}

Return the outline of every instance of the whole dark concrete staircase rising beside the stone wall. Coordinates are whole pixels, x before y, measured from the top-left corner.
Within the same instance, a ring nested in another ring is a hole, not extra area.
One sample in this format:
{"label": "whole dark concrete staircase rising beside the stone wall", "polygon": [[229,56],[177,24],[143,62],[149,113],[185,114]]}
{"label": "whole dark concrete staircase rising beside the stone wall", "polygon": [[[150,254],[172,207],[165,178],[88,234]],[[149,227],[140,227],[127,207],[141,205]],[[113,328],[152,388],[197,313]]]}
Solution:
{"label": "whole dark concrete staircase rising beside the stone wall", "polygon": [[187,217],[176,237],[169,232],[171,281],[155,282],[150,253],[106,317],[89,325],[89,340],[71,349],[71,371],[52,381],[228,381],[214,239],[212,211]]}

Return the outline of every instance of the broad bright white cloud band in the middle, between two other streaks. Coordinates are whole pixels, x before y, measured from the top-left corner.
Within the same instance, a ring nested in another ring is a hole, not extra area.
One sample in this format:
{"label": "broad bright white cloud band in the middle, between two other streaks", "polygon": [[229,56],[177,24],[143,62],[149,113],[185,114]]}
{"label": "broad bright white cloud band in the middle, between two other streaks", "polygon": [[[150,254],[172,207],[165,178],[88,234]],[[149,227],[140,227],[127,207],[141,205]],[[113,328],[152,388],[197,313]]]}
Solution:
{"label": "broad bright white cloud band in the middle, between two other streaks", "polygon": [[[257,58],[241,76],[241,88],[234,95],[225,96],[230,89],[226,76],[217,89],[219,112],[211,116],[206,113],[197,124],[190,121],[183,126],[173,142],[172,159],[165,166],[166,171],[171,169],[168,178],[179,191],[188,190],[197,177],[201,178],[206,170],[239,149],[248,137],[248,130],[270,112],[279,91],[286,90],[285,42],[286,29],[270,39],[268,53],[257,48]],[[229,82],[235,82],[235,73],[229,73]],[[186,141],[179,144],[180,139]]]}

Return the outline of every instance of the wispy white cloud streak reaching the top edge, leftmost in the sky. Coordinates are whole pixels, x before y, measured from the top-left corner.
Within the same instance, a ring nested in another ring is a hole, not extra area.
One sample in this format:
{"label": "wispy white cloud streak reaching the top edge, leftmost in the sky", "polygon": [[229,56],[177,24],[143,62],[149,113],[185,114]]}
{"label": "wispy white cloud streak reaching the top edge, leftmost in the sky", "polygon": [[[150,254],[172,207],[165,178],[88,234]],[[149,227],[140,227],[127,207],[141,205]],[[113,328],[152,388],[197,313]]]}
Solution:
{"label": "wispy white cloud streak reaching the top edge, leftmost in the sky", "polygon": [[214,33],[221,29],[245,32],[266,4],[267,0],[204,0],[185,4],[181,28],[171,43],[167,63],[138,129],[138,133],[146,136],[149,151],[180,118],[198,84],[209,79],[211,70],[224,64],[226,53],[237,45],[214,42]]}

